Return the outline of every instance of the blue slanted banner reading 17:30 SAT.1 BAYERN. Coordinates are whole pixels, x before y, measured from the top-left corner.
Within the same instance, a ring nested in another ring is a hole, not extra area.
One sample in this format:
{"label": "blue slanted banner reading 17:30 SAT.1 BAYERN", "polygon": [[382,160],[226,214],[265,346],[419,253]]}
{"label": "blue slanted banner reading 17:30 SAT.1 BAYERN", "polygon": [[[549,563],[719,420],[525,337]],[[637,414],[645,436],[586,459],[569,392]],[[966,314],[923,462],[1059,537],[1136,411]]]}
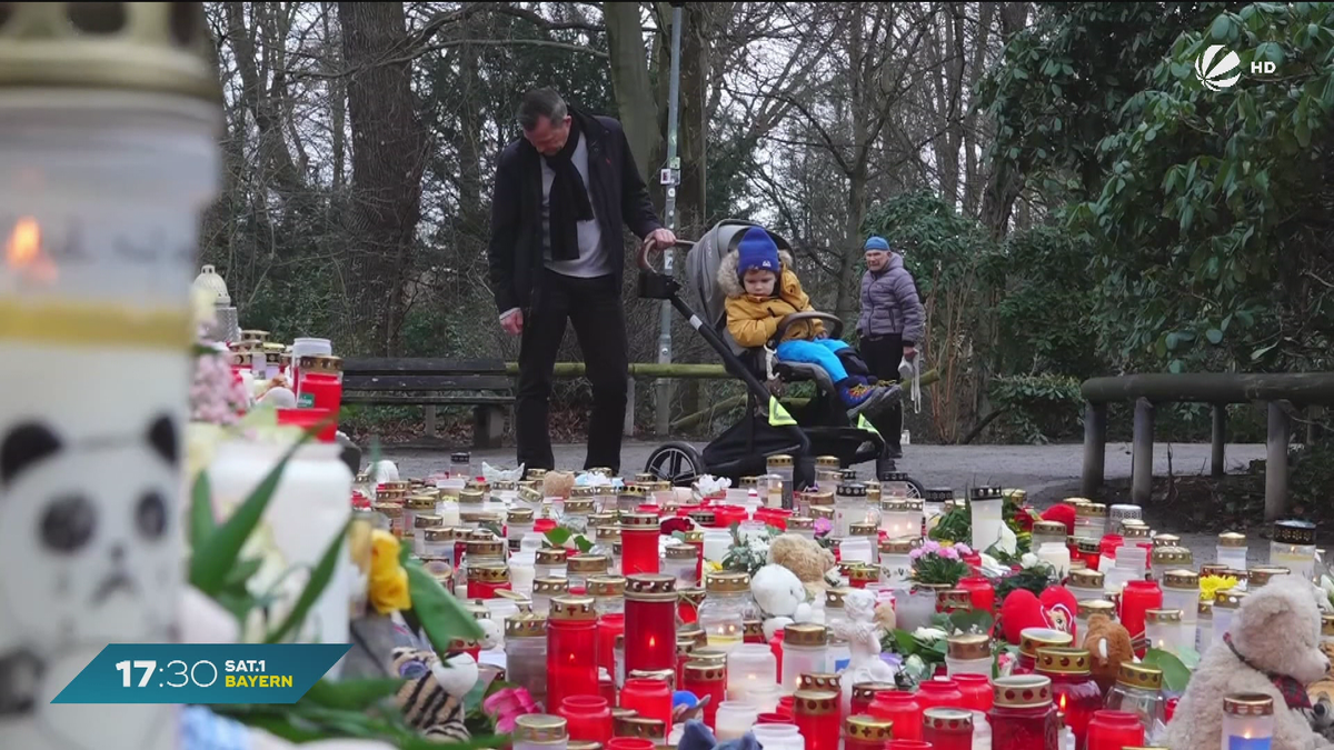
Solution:
{"label": "blue slanted banner reading 17:30 SAT.1 BAYERN", "polygon": [[295,703],[348,643],[112,643],[52,703]]}

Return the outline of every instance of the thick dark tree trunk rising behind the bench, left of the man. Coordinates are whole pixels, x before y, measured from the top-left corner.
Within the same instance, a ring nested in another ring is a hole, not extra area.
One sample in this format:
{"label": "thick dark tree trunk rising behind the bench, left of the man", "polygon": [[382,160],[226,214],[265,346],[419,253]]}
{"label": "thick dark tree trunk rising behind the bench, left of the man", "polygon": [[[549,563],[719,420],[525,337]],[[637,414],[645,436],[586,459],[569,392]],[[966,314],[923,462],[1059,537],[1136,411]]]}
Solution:
{"label": "thick dark tree trunk rising behind the bench, left of the man", "polygon": [[[352,124],[352,207],[348,228],[358,247],[363,320],[374,322],[374,351],[398,351],[422,214],[426,137],[416,116],[411,61],[396,61],[407,43],[402,3],[339,3],[343,56],[350,69]],[[388,60],[388,61],[386,61]]]}

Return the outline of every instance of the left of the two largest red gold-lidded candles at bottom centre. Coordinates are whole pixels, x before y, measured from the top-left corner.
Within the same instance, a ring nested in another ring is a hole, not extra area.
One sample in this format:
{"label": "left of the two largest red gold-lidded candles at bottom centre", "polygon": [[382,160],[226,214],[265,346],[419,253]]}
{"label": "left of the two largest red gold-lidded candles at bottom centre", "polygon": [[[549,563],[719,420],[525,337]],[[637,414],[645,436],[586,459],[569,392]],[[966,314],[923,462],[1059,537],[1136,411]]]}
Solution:
{"label": "left of the two largest red gold-lidded candles at bottom centre", "polygon": [[547,619],[548,706],[598,695],[598,611],[591,597],[555,597]]}

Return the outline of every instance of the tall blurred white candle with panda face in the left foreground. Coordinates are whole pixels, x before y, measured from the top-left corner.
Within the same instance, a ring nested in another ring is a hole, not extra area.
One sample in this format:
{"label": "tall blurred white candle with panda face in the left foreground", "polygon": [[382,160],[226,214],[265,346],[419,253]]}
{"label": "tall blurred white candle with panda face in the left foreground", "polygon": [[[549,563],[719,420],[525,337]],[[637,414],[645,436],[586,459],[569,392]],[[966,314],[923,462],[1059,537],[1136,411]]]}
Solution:
{"label": "tall blurred white candle with panda face in the left foreground", "polygon": [[5,8],[0,691],[31,707],[0,718],[0,747],[177,742],[171,706],[51,699],[108,643],[171,642],[177,621],[189,295],[221,132],[201,4],[181,5]]}

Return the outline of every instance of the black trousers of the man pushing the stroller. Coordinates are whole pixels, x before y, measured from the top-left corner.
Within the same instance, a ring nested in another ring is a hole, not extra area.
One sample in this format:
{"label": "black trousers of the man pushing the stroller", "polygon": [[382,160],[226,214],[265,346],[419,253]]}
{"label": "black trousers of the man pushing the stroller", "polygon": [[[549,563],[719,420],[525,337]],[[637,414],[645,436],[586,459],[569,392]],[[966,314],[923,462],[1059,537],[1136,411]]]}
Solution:
{"label": "black trousers of the man pushing the stroller", "polygon": [[578,279],[544,271],[532,307],[524,312],[519,342],[519,396],[515,407],[519,462],[527,468],[555,468],[547,422],[548,400],[551,372],[560,339],[566,335],[567,318],[579,338],[584,376],[592,384],[584,468],[620,471],[630,362],[626,311],[614,276]]}

